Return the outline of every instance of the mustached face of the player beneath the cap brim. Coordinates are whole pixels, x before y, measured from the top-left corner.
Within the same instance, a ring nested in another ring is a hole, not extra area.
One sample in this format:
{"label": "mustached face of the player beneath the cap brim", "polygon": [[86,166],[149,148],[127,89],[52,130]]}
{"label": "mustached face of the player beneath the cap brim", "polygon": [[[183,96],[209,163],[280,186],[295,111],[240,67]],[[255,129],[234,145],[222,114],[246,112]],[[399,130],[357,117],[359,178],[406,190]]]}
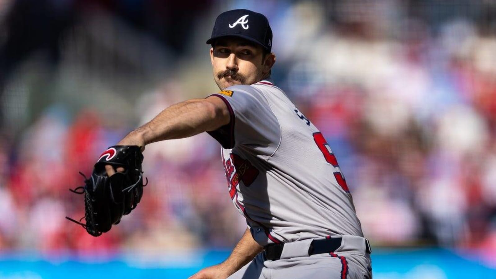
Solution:
{"label": "mustached face of the player beneath the cap brim", "polygon": [[263,55],[261,46],[237,37],[218,39],[210,49],[210,59],[215,83],[221,90],[262,80],[275,62],[273,54]]}

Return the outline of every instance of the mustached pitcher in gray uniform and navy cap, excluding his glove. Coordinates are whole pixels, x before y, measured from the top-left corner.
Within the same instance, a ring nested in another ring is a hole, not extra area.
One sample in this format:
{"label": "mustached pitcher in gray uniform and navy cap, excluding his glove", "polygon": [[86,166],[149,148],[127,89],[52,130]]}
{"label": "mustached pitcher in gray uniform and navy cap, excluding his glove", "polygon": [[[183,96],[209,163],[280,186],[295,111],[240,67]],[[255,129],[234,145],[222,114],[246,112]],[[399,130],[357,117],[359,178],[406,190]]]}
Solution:
{"label": "mustached pitcher in gray uniform and navy cap, excluding his glove", "polygon": [[336,157],[270,80],[267,18],[221,13],[207,44],[221,91],[172,105],[118,143],[144,149],[207,132],[222,145],[229,195],[248,228],[228,259],[190,278],[372,278],[371,248]]}

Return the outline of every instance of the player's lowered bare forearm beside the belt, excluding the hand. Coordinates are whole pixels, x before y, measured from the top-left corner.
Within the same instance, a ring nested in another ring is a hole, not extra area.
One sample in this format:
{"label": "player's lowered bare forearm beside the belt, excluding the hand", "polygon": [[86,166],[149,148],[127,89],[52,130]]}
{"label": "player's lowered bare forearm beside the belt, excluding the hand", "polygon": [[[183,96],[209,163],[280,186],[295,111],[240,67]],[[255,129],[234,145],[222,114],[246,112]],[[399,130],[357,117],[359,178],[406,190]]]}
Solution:
{"label": "player's lowered bare forearm beside the belt, excluding the hand", "polygon": [[221,265],[223,265],[231,275],[248,264],[253,258],[263,250],[263,247],[255,242],[249,229],[245,231],[233,252]]}

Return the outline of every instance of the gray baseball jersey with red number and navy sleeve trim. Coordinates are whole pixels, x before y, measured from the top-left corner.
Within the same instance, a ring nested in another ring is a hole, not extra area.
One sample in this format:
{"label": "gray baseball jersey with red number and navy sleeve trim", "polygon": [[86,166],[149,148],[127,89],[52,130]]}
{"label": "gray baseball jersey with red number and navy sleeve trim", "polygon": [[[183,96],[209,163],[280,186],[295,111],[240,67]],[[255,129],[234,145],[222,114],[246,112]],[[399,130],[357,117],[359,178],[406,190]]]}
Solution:
{"label": "gray baseball jersey with red number and navy sleeve trim", "polygon": [[222,145],[231,199],[258,244],[363,236],[336,157],[280,88],[263,80],[213,95],[231,121],[209,134]]}

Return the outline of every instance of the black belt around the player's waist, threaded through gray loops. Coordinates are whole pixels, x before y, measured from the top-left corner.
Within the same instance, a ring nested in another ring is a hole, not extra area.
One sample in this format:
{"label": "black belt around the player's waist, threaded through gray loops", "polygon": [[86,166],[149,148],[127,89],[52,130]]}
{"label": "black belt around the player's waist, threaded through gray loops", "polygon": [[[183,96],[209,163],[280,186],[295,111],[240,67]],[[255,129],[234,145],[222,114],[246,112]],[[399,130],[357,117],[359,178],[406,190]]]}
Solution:
{"label": "black belt around the player's waist, threaded through gray loops", "polygon": [[[334,252],[341,246],[341,237],[314,239],[310,243],[309,256],[315,254],[323,254]],[[265,258],[270,261],[279,260],[281,258],[284,243],[269,244],[264,247]],[[365,247],[367,253],[372,253],[371,246],[368,239],[365,239]]]}

